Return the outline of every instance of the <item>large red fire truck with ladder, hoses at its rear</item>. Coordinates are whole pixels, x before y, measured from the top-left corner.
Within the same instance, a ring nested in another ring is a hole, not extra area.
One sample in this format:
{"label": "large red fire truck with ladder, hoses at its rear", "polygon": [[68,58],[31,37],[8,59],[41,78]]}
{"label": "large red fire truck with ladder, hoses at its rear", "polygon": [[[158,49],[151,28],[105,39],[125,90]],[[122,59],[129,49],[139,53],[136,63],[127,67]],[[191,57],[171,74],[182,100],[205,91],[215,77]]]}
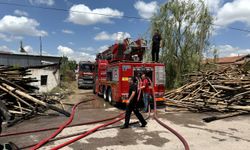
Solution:
{"label": "large red fire truck with ladder, hoses at its rear", "polygon": [[127,103],[128,77],[145,72],[155,91],[156,101],[164,101],[165,66],[161,63],[142,62],[147,43],[143,39],[125,39],[97,54],[93,92],[102,95],[111,104]]}

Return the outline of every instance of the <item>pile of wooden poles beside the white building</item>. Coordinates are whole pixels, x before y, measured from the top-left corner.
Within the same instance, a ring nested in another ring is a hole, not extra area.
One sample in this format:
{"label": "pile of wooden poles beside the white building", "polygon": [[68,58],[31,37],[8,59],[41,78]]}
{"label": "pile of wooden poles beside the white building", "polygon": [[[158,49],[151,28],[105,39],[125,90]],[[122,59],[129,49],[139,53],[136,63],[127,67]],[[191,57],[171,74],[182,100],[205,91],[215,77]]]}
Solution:
{"label": "pile of wooden poles beside the white building", "polygon": [[0,109],[9,125],[36,115],[45,115],[48,109],[70,116],[67,111],[54,105],[58,99],[35,93],[38,88],[30,83],[38,80],[27,75],[30,75],[28,67],[0,66]]}

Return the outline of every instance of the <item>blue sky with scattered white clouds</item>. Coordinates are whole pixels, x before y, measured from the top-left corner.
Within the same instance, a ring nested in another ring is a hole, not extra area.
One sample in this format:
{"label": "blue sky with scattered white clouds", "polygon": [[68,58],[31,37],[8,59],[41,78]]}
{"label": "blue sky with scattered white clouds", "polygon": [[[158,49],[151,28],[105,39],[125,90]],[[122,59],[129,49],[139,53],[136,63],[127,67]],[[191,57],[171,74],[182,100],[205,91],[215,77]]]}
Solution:
{"label": "blue sky with scattered white clouds", "polygon": [[[0,51],[20,53],[22,41],[28,54],[39,55],[41,37],[43,55],[94,60],[98,52],[122,38],[150,37],[149,20],[166,2],[0,0]],[[211,57],[214,48],[219,57],[249,54],[250,0],[204,2],[217,25],[205,55]]]}

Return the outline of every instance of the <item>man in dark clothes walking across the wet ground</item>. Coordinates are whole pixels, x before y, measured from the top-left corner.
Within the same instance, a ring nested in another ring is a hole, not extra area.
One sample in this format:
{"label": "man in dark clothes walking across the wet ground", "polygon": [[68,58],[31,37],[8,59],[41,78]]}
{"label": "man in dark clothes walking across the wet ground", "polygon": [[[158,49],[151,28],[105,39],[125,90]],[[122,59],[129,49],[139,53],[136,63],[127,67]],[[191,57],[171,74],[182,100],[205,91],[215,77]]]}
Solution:
{"label": "man in dark clothes walking across the wet ground", "polygon": [[138,103],[137,103],[138,93],[137,93],[136,78],[129,77],[128,82],[129,82],[129,99],[128,99],[128,105],[126,108],[125,123],[121,127],[121,129],[128,128],[132,111],[134,112],[136,117],[140,120],[141,127],[145,127],[147,125],[147,122],[145,121],[145,119],[143,118],[143,116],[138,110]]}

